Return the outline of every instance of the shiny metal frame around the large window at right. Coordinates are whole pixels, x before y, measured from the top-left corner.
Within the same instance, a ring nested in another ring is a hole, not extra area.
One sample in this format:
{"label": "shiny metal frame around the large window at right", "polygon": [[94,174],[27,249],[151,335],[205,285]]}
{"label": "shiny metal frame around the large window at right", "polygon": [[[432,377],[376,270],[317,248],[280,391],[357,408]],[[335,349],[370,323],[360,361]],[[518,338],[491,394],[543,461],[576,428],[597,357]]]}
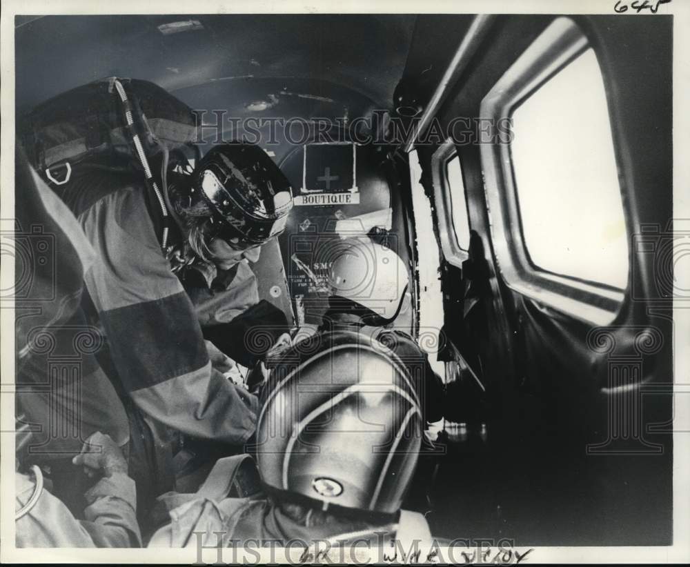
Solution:
{"label": "shiny metal frame around the large window at right", "polygon": [[[495,120],[512,117],[513,110],[522,101],[588,48],[593,46],[575,22],[566,17],[555,19],[489,90],[482,99],[480,115]],[[599,70],[603,80],[601,67]],[[611,100],[608,96],[607,110],[613,136]],[[615,153],[615,137],[613,142]],[[540,304],[588,324],[610,324],[620,310],[625,290],[558,275],[535,266],[529,259],[524,242],[511,146],[483,144],[480,146],[480,155],[493,247],[498,271],[506,285]],[[615,158],[618,161],[618,155]],[[621,202],[623,205],[624,201]],[[623,216],[628,230],[624,208]],[[629,273],[630,267],[628,285]]]}

